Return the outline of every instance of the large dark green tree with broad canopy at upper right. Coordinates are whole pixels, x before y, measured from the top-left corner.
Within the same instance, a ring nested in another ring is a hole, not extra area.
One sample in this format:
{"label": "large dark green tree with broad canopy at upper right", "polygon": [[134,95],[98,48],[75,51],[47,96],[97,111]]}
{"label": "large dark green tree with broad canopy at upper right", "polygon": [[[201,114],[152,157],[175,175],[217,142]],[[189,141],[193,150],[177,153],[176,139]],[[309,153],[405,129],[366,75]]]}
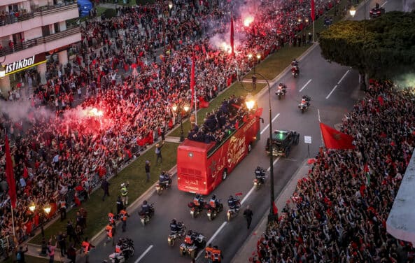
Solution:
{"label": "large dark green tree with broad canopy at upper right", "polygon": [[342,21],[321,33],[321,53],[329,62],[367,78],[393,78],[415,72],[415,12],[388,12],[366,21]]}

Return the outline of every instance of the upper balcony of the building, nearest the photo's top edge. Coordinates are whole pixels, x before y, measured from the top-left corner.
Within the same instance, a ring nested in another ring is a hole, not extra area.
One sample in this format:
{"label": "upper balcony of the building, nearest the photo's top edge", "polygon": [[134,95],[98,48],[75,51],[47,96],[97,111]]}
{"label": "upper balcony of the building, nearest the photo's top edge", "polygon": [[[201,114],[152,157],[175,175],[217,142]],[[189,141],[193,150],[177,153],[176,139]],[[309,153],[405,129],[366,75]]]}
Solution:
{"label": "upper balcony of the building, nearest the photo's top edge", "polygon": [[[32,11],[29,13],[25,10],[20,10],[18,15],[0,15],[0,36],[2,31],[4,33],[4,27],[7,28],[7,31],[24,31],[25,29],[41,27],[78,16],[78,3],[76,0],[62,1],[55,6],[33,6]],[[10,26],[12,24],[13,26]],[[20,26],[17,24],[20,24]]]}

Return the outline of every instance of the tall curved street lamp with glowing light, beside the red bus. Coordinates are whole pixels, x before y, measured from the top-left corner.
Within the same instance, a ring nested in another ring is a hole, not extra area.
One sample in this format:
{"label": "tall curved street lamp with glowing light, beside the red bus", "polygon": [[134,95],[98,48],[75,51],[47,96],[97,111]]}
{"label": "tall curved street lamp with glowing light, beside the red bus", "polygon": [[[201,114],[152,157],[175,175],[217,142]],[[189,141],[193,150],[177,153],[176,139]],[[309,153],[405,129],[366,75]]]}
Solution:
{"label": "tall curved street lamp with glowing light, beside the red bus", "polygon": [[[252,56],[251,56],[252,57]],[[274,215],[274,201],[275,201],[275,192],[274,192],[274,157],[272,155],[272,110],[271,110],[271,86],[269,85],[269,81],[265,76],[262,76],[262,74],[257,73],[262,79],[265,80],[268,86],[268,106],[269,106],[269,152],[271,154],[269,155],[269,200],[270,200],[270,206],[269,206],[269,215],[268,215],[268,222],[273,222],[276,220],[276,215]],[[249,74],[248,74],[249,75]],[[247,75],[247,76],[248,76]],[[256,78],[255,78],[256,80]],[[241,82],[242,87],[244,87],[244,90],[251,91],[246,89],[244,86],[244,80]],[[255,85],[253,83],[253,89],[255,89]],[[253,97],[250,93],[248,93],[248,96],[245,98],[245,104],[246,108],[250,109],[253,108],[253,105],[255,104],[255,101],[253,101]]]}

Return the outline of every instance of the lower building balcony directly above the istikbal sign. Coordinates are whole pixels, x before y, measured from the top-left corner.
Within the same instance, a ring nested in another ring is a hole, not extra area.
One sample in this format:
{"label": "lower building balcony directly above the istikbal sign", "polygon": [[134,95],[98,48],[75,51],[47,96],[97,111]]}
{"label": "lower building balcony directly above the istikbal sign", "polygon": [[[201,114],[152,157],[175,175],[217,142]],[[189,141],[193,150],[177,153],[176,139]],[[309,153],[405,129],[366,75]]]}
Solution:
{"label": "lower building balcony directly above the istikbal sign", "polygon": [[6,56],[8,61],[15,61],[22,57],[30,57],[41,52],[49,52],[50,50],[55,50],[56,48],[78,41],[80,41],[80,27],[73,27],[49,36],[41,36],[15,44],[13,48],[3,47],[0,50],[0,57]]}

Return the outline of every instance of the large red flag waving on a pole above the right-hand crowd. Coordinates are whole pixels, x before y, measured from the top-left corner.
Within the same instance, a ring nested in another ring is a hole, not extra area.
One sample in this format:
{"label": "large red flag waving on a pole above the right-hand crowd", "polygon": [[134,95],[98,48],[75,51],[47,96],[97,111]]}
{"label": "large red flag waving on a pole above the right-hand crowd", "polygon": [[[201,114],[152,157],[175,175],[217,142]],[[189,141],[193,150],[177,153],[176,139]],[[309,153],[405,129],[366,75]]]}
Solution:
{"label": "large red flag waving on a pole above the right-hand crowd", "polygon": [[320,122],[321,134],[323,135],[323,140],[325,148],[328,149],[354,149],[353,137],[349,134],[344,134],[337,129],[325,125],[323,122]]}

